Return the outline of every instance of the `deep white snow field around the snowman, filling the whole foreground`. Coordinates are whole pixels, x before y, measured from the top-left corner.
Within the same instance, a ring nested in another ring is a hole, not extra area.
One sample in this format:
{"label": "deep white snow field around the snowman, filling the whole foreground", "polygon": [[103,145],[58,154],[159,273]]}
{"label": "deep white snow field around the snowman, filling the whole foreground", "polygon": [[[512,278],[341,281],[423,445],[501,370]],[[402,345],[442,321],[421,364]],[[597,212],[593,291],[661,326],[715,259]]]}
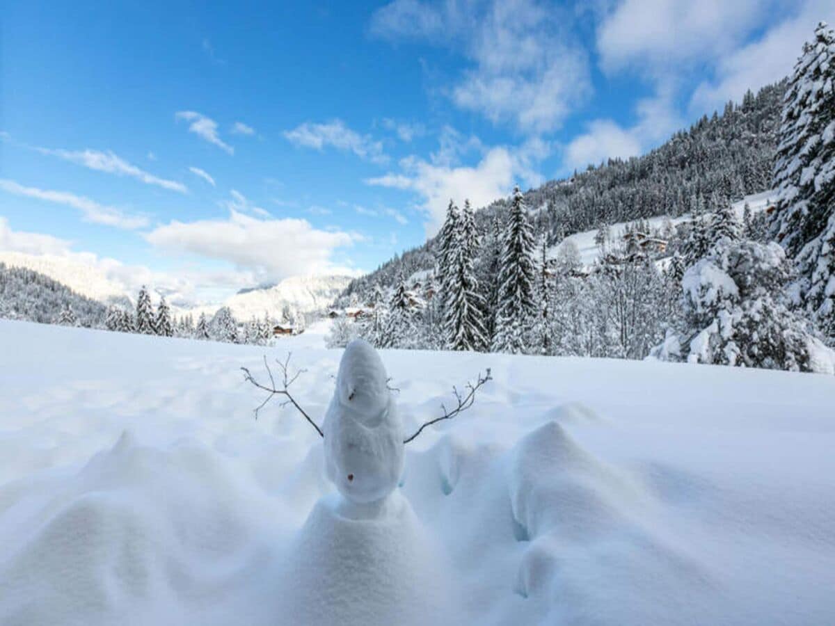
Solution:
{"label": "deep white snow field around the snowman, filling the whole foreground", "polygon": [[382,351],[406,432],[493,381],[367,515],[265,350],[0,321],[0,623],[832,624],[832,376]]}

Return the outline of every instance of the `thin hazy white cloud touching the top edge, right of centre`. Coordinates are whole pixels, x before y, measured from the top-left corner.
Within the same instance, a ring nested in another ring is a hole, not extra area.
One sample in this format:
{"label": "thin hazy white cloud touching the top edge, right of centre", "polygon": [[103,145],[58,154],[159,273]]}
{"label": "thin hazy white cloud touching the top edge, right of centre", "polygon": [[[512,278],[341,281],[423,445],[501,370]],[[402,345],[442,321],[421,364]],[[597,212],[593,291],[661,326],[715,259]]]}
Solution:
{"label": "thin hazy white cloud touching the top edge, right of centre", "polygon": [[567,12],[536,0],[394,0],[374,13],[371,30],[394,41],[463,49],[473,67],[452,88],[453,102],[539,133],[558,128],[591,90],[586,54],[568,20]]}

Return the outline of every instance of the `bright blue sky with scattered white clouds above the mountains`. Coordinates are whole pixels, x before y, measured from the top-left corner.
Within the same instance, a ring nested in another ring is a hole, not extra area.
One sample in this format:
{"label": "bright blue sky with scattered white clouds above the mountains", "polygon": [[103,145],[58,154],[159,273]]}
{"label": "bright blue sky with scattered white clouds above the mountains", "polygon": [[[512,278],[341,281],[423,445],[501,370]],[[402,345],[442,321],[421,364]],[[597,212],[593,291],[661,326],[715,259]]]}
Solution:
{"label": "bright blue sky with scattered white clouds above the mountains", "polygon": [[109,4],[4,5],[0,252],[183,300],[371,270],[451,197],[645,152],[835,18],[835,0]]}

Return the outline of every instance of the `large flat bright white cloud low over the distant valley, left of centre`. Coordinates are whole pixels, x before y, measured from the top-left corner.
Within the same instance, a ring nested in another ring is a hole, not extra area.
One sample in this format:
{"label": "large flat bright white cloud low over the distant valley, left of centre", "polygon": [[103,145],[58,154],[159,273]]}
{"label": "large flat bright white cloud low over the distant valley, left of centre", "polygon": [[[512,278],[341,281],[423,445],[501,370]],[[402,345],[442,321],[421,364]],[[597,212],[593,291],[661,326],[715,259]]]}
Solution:
{"label": "large flat bright white cloud low over the distant valley, left of centre", "polygon": [[353,235],[316,230],[306,220],[261,220],[230,211],[225,220],[173,221],[146,235],[152,244],[180,253],[224,260],[260,280],[335,273],[334,250],[352,245]]}

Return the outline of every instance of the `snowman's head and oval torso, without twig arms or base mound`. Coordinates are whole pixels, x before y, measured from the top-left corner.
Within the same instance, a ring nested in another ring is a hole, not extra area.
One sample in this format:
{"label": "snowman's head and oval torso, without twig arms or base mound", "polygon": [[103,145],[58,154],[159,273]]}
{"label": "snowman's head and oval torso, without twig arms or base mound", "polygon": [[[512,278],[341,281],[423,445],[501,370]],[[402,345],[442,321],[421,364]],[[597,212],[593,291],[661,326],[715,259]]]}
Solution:
{"label": "snowman's head and oval torso, without twig arms or base mound", "polygon": [[337,390],[322,427],[328,478],[351,502],[377,502],[403,469],[403,432],[377,351],[361,339],[348,344]]}

